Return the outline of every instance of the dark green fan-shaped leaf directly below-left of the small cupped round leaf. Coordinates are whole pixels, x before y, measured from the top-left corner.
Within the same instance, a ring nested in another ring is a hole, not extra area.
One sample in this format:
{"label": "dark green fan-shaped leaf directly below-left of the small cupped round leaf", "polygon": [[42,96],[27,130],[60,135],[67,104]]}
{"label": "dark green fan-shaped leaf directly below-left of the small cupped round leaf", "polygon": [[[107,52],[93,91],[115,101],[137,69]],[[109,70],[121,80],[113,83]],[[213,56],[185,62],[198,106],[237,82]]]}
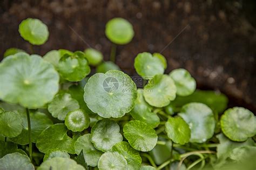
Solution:
{"label": "dark green fan-shaped leaf directly below-left of the small cupped round leaf", "polygon": [[53,149],[75,154],[75,140],[70,138],[64,124],[55,124],[46,128],[37,138],[36,146],[42,153],[49,153]]}

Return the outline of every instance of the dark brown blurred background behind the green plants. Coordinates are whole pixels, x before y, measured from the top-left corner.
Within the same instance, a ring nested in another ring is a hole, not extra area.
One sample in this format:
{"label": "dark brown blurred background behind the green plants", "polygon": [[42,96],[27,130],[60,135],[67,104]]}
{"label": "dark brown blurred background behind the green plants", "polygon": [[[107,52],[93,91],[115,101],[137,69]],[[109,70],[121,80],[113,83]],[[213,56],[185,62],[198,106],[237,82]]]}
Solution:
{"label": "dark brown blurred background behind the green plants", "polygon": [[244,106],[255,114],[255,0],[1,0],[0,6],[0,60],[10,47],[30,52],[18,33],[19,23],[28,17],[41,19],[50,32],[48,42],[34,47],[35,53],[83,51],[85,40],[109,60],[105,24],[113,17],[127,19],[135,36],[118,46],[116,63],[130,76],[136,75],[133,62],[139,52],[160,52],[186,27],[163,51],[166,73],[184,67],[199,89],[224,92],[230,106]]}

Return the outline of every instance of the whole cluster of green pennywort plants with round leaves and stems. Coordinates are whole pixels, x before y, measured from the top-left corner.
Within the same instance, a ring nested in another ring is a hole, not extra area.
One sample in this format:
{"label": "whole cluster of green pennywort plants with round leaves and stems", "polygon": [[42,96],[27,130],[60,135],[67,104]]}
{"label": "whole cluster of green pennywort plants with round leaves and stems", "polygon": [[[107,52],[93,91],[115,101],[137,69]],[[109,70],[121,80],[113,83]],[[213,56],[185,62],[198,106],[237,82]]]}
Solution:
{"label": "whole cluster of green pennywort plants with round leaves and stems", "polygon": [[[19,32],[32,45],[49,37],[38,19],[25,19]],[[113,18],[105,34],[124,45],[134,31]],[[112,61],[92,48],[4,53],[0,169],[255,169],[251,111],[227,109],[224,94],[196,90],[185,69],[165,73],[161,53],[134,59],[136,81],[144,82],[138,88],[115,53],[116,45]]]}

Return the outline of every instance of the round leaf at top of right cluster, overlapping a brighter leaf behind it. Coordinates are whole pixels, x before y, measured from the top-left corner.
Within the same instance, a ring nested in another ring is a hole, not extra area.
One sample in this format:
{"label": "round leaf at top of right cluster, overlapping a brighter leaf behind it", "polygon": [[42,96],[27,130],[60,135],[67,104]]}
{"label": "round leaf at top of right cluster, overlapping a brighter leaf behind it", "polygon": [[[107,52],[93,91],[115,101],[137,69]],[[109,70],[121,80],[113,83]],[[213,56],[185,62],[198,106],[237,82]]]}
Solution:
{"label": "round leaf at top of right cluster, overlapping a brighter leaf behind it", "polygon": [[163,63],[149,52],[139,53],[134,60],[134,67],[144,79],[152,79],[155,75],[164,73]]}

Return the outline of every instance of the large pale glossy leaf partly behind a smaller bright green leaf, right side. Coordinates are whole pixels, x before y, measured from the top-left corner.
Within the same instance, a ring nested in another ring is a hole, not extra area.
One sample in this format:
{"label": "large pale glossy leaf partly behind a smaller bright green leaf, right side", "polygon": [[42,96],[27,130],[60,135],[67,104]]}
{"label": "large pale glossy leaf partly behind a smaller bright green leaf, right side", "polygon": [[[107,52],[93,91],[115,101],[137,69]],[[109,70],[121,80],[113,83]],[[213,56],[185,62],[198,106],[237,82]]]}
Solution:
{"label": "large pale glossy leaf partly behind a smaller bright green leaf, right side", "polygon": [[211,108],[202,103],[189,103],[179,113],[191,130],[190,142],[203,143],[212,138],[215,119]]}

